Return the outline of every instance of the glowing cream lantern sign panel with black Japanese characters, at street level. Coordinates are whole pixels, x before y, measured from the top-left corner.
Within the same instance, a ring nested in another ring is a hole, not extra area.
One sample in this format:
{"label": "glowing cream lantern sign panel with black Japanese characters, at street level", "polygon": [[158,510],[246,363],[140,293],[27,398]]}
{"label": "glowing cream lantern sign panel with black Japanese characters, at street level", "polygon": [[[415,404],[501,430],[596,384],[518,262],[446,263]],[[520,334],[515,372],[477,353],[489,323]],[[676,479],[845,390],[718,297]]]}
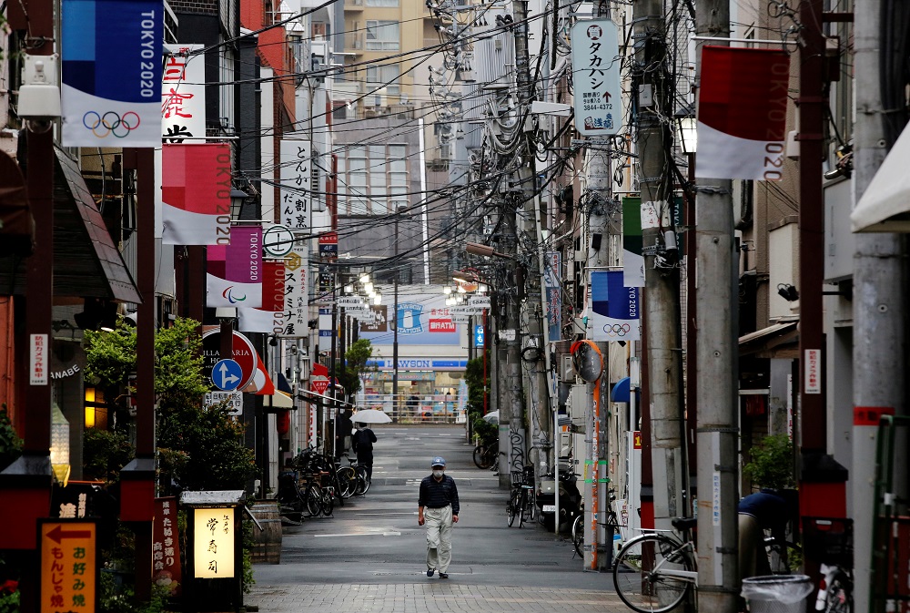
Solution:
{"label": "glowing cream lantern sign panel with black Japanese characters, at street level", "polygon": [[230,506],[193,509],[194,577],[234,577],[234,513]]}

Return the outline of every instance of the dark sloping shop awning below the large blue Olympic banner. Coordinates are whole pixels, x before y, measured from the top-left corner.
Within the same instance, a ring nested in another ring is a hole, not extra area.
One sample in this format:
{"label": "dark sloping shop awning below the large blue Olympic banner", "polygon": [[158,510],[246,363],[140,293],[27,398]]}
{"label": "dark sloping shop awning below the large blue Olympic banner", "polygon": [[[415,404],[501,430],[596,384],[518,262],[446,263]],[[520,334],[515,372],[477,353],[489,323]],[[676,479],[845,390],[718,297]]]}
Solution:
{"label": "dark sloping shop awning below the large blue Olympic banner", "polygon": [[[76,160],[59,148],[55,153],[55,297],[141,302],[136,283],[111,240]],[[0,259],[0,287],[25,293],[25,267],[15,266],[12,258]]]}

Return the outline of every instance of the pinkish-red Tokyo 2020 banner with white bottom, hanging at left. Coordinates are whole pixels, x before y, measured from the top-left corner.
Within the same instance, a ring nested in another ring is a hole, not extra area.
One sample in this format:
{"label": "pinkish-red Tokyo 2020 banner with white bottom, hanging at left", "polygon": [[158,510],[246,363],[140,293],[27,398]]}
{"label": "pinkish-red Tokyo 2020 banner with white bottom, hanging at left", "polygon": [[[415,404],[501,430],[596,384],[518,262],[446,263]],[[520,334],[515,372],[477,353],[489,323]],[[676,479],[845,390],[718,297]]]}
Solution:
{"label": "pinkish-red Tokyo 2020 banner with white bottom, hanging at left", "polygon": [[161,242],[227,245],[230,240],[230,146],[163,146]]}

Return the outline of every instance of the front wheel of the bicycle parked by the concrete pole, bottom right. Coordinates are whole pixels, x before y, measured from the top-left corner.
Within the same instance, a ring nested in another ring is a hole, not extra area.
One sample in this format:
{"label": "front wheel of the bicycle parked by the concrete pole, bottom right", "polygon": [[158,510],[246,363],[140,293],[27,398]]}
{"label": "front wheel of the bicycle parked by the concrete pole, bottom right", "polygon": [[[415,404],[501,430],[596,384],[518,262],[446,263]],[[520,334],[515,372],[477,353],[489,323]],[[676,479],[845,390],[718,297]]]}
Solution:
{"label": "front wheel of the bicycle parked by the concrete pole, bottom right", "polygon": [[[641,554],[636,553],[637,547]],[[679,541],[663,535],[646,535],[622,547],[613,565],[613,586],[626,607],[639,613],[662,613],[679,606],[693,582],[665,571],[694,570],[688,552],[679,547]],[[646,563],[652,570],[643,568]],[[627,567],[642,567],[641,573],[626,572]]]}

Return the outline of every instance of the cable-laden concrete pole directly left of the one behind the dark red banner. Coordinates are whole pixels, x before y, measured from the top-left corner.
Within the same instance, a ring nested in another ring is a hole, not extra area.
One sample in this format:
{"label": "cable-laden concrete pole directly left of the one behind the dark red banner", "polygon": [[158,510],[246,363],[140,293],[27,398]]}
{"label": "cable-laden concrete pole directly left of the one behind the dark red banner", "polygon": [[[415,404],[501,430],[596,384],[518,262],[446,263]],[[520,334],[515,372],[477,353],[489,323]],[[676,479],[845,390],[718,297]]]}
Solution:
{"label": "cable-laden concrete pole directly left of the one behind the dark red banner", "polygon": [[669,529],[685,513],[682,474],[682,347],[679,332],[679,269],[672,231],[672,179],[667,172],[665,134],[672,117],[666,32],[660,0],[633,6],[638,142],[642,191],[645,351],[648,356],[654,524]]}

